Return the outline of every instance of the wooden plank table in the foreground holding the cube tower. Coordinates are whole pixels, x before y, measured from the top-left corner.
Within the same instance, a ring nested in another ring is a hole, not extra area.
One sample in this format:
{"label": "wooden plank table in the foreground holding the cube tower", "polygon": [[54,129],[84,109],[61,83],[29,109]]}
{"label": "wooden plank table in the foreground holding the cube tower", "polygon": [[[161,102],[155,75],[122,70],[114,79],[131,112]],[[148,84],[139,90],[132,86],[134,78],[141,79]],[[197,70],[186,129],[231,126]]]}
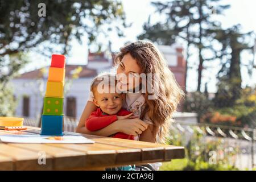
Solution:
{"label": "wooden plank table in the foreground holding the cube tower", "polygon": [[[0,135],[39,135],[40,128],[24,131],[0,130]],[[65,135],[81,135],[65,132]],[[0,170],[104,170],[126,164],[165,162],[184,158],[184,147],[135,140],[83,135],[93,144],[28,144],[0,142]],[[39,164],[39,152],[46,164]]]}

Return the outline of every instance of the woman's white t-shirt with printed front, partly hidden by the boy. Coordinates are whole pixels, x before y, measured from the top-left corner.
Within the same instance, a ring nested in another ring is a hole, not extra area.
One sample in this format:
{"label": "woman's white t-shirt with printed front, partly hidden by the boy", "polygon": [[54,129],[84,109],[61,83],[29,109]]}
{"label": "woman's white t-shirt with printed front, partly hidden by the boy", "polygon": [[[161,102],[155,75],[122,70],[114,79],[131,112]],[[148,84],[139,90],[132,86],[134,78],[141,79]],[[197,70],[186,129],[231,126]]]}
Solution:
{"label": "woman's white t-shirt with printed front, partly hidden by the boy", "polygon": [[[88,101],[93,102],[93,93],[90,92]],[[140,117],[141,113],[144,109],[143,105],[145,103],[145,98],[141,93],[126,93],[125,94],[125,102],[123,102],[123,108],[133,112],[134,115]],[[145,114],[144,118],[142,119],[144,122],[152,125],[153,122],[148,118],[148,115]],[[139,135],[138,135],[139,136]],[[134,137],[134,140],[139,140],[139,137]],[[162,166],[162,163],[150,163],[151,166],[158,170],[160,166]]]}

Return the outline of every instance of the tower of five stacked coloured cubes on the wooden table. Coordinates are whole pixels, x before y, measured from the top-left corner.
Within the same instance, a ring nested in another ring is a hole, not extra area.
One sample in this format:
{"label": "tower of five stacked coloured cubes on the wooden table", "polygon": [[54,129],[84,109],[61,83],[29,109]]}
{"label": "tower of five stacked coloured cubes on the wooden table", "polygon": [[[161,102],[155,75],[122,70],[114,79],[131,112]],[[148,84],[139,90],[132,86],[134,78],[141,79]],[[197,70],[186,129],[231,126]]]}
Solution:
{"label": "tower of five stacked coloured cubes on the wooden table", "polygon": [[64,80],[65,56],[52,55],[44,97],[41,135],[63,135]]}

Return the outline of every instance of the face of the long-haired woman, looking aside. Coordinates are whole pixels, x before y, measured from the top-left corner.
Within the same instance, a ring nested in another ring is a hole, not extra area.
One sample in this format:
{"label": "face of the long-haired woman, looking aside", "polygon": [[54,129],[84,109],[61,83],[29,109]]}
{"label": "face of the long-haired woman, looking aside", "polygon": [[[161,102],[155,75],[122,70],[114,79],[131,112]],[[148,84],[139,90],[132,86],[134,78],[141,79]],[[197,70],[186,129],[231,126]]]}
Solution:
{"label": "face of the long-haired woman, looking aside", "polygon": [[123,56],[117,68],[117,84],[120,90],[130,90],[141,84],[139,75],[142,73],[137,61],[131,57],[130,53]]}

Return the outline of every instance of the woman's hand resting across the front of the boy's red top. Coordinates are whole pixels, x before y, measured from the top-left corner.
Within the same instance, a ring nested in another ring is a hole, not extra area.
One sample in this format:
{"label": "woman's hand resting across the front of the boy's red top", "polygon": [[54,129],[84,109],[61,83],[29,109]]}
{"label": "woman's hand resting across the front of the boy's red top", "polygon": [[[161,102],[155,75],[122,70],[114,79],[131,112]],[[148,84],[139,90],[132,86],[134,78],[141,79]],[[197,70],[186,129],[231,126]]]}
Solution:
{"label": "woman's hand resting across the front of the boy's red top", "polygon": [[125,133],[127,135],[133,135],[134,137],[142,134],[142,132],[148,127],[148,124],[139,118],[118,119],[117,121],[113,122],[112,125],[119,132]]}

